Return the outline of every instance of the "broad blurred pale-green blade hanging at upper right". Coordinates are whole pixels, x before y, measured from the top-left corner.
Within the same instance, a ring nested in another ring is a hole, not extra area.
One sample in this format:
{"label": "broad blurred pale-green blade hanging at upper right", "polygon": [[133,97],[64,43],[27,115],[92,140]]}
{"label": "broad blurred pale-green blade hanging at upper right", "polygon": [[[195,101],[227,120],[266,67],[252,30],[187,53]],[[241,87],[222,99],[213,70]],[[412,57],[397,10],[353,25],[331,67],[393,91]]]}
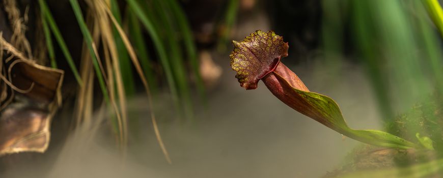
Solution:
{"label": "broad blurred pale-green blade hanging at upper right", "polygon": [[400,1],[376,0],[371,3],[374,5],[372,18],[381,39],[378,42],[386,50],[383,50],[386,65],[396,66],[392,68],[394,73],[391,76],[394,80],[401,81],[397,85],[402,90],[396,91],[395,95],[402,95],[402,99],[400,102],[393,100],[394,104],[399,103],[398,106],[409,108],[416,103],[417,98],[423,98],[426,92],[431,92],[427,77],[424,76],[427,72],[423,68],[424,63],[417,60],[417,52],[413,52],[420,47],[418,40],[421,40],[414,37],[417,34],[414,31],[416,25],[411,24],[411,18],[407,16],[404,4]]}

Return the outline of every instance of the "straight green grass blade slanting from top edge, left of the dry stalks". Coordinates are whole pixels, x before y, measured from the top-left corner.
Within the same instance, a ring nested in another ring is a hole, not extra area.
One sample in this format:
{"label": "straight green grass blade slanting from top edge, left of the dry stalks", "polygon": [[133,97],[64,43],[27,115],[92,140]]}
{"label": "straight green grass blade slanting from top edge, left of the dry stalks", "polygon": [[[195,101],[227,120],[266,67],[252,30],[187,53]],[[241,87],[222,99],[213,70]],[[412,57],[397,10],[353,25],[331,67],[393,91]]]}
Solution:
{"label": "straight green grass blade slanting from top edge, left of the dry stalks", "polygon": [[[51,12],[48,9],[48,6],[44,2],[44,0],[39,0],[41,11],[44,13],[45,18],[48,22],[49,27],[52,30],[52,34],[56,38],[57,42],[59,43],[60,49],[63,52],[63,55],[66,57],[66,61],[68,62],[69,67],[72,70],[72,73],[74,74],[75,79],[77,80],[78,84],[80,86],[83,85],[83,82],[81,81],[80,74],[78,74],[77,67],[75,67],[74,61],[72,60],[71,53],[68,50],[68,47],[66,46],[65,40],[63,39],[59,27],[56,24],[56,21],[52,17]],[[43,18],[43,17],[42,17]]]}

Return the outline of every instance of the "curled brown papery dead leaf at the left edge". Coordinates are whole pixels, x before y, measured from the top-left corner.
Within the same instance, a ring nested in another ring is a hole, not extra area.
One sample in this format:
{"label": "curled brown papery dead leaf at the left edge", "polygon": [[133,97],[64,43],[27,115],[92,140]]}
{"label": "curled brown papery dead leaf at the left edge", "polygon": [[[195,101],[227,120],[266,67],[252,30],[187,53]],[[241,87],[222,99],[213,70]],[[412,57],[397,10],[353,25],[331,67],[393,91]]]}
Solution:
{"label": "curled brown papery dead leaf at the left edge", "polygon": [[[0,102],[0,156],[18,152],[44,152],[50,139],[50,121],[61,104],[64,72],[24,57],[0,34],[0,80],[9,88]],[[1,54],[1,52],[0,52]],[[3,88],[0,91],[5,91]],[[4,95],[5,93],[2,92]]]}

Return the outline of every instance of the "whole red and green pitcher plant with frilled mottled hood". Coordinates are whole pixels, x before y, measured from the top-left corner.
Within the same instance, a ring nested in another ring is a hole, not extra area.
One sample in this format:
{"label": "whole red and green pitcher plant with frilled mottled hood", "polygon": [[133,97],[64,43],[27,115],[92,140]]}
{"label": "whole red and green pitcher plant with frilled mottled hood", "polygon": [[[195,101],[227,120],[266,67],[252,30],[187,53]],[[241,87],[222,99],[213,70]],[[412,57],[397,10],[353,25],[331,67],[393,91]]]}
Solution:
{"label": "whole red and green pitcher plant with frilled mottled hood", "polygon": [[[288,43],[274,32],[252,33],[243,41],[233,41],[231,67],[240,86],[254,90],[262,80],[268,90],[283,103],[313,118],[324,126],[352,139],[396,149],[429,149],[432,146],[407,141],[379,130],[353,130],[346,124],[337,103],[324,95],[310,92],[298,76],[281,59],[288,56]],[[426,144],[432,144],[427,142]]]}

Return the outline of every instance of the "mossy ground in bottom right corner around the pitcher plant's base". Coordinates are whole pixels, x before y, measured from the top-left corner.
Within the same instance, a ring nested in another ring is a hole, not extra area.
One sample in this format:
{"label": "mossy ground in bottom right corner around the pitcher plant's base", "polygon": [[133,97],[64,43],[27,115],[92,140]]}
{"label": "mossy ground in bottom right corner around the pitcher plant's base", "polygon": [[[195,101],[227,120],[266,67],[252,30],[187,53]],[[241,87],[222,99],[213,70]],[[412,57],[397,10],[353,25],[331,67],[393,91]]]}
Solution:
{"label": "mossy ground in bottom right corner around the pitcher plant's base", "polygon": [[[431,138],[435,151],[397,150],[359,145],[348,154],[339,168],[325,177],[336,177],[361,170],[407,167],[443,158],[443,98],[435,95],[384,122],[385,130],[406,140],[419,141],[416,134]],[[441,171],[440,171],[441,172]]]}

